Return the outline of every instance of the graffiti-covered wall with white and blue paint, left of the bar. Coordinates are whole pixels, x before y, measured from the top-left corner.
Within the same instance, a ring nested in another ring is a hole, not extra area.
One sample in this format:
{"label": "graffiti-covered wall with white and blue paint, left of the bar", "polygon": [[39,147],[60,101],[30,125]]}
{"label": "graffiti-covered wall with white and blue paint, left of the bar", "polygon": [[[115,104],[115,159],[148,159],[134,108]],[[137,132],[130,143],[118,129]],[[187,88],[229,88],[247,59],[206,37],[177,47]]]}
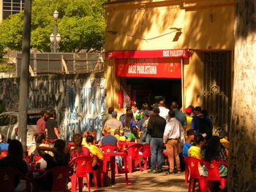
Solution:
{"label": "graffiti-covered wall with white and blue paint, left of the bar", "polygon": [[[18,110],[19,79],[0,80],[0,101],[5,110]],[[61,136],[95,128],[99,138],[105,112],[105,78],[86,74],[33,77],[29,84],[29,110],[57,112]]]}

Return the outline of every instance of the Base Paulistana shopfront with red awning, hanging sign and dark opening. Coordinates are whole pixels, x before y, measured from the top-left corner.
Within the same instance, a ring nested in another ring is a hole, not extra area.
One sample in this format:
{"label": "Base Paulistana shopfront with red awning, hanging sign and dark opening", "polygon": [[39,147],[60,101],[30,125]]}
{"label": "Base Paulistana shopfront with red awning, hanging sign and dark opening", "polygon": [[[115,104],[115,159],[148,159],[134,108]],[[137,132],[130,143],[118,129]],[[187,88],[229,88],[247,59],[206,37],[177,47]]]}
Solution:
{"label": "Base Paulistana shopfront with red awning, hanging sign and dark opening", "polygon": [[127,50],[110,51],[105,58],[115,59],[115,75],[121,77],[118,92],[119,108],[130,104],[152,105],[160,100],[170,106],[181,105],[182,59],[189,58],[189,50]]}

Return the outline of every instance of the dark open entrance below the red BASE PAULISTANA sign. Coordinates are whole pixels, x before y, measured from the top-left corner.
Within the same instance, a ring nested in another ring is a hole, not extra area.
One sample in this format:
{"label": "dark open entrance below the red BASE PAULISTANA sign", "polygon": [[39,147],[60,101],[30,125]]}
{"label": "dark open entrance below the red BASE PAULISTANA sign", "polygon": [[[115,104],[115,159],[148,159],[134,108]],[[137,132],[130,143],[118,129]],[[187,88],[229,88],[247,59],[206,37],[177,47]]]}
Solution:
{"label": "dark open entrance below the red BASE PAULISTANA sign", "polygon": [[140,108],[144,102],[151,106],[161,100],[165,100],[167,107],[170,107],[171,101],[178,101],[181,105],[181,79],[121,77],[121,85],[124,107],[136,103]]}

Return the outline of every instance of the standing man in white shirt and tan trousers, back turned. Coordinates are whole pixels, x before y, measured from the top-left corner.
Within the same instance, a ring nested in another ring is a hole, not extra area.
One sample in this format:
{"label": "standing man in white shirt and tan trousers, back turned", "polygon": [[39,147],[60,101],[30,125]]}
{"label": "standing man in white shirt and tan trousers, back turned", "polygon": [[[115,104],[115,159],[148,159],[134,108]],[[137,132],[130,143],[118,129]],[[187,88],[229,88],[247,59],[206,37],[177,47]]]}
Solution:
{"label": "standing man in white shirt and tan trousers, back turned", "polygon": [[166,174],[174,174],[174,163],[176,164],[176,171],[181,172],[180,160],[178,157],[178,142],[184,142],[184,128],[175,118],[175,112],[170,110],[168,112],[170,121],[165,126],[163,142],[166,144],[166,150],[169,158],[170,171]]}

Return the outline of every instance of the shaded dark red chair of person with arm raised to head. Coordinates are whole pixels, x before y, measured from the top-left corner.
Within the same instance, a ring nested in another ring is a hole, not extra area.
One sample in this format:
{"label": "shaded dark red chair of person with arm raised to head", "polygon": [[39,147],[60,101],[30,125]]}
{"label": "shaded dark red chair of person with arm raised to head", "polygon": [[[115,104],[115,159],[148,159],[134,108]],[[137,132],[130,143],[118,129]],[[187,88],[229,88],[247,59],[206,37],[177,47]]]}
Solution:
{"label": "shaded dark red chair of person with arm raised to head", "polygon": [[[48,169],[44,174],[34,178],[34,188],[35,191],[39,192],[64,192],[66,191],[67,178],[73,172],[72,168],[69,166],[55,166]],[[51,191],[45,191],[39,188],[39,180],[47,180],[49,175],[53,176],[53,185]]]}

